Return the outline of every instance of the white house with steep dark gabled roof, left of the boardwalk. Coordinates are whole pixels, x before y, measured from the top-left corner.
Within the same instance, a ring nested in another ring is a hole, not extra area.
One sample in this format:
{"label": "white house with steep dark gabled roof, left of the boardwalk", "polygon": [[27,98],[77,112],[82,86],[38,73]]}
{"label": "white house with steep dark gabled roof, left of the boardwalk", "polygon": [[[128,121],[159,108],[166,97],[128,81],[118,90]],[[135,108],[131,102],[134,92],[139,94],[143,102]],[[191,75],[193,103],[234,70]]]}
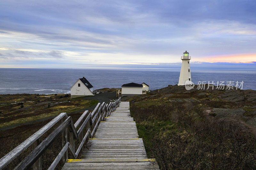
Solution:
{"label": "white house with steep dark gabled roof, left of the boardwalk", "polygon": [[81,97],[81,96],[94,96],[92,84],[86,79],[78,79],[75,84],[70,88],[71,98]]}

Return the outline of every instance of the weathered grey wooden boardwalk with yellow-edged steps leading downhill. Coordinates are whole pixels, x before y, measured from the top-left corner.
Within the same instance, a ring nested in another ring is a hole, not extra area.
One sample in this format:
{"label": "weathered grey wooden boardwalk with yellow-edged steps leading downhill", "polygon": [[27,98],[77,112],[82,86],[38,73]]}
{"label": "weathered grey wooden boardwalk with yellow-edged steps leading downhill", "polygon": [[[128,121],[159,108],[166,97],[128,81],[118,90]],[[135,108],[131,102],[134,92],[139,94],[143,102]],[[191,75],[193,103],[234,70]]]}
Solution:
{"label": "weathered grey wooden boardwalk with yellow-edged steps leading downhill", "polygon": [[82,159],[68,159],[62,169],[159,169],[155,159],[147,159],[129,109],[129,102],[121,102],[100,123]]}

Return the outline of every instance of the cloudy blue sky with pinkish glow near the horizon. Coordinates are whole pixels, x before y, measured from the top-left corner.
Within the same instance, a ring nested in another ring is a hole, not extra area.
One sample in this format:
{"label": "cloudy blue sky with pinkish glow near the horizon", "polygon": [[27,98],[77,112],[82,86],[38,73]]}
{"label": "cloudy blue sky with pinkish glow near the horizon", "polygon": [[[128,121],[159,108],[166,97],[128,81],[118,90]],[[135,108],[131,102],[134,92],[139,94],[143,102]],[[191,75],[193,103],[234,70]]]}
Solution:
{"label": "cloudy blue sky with pinkish glow near the horizon", "polygon": [[255,0],[3,0],[0,67],[256,69]]}

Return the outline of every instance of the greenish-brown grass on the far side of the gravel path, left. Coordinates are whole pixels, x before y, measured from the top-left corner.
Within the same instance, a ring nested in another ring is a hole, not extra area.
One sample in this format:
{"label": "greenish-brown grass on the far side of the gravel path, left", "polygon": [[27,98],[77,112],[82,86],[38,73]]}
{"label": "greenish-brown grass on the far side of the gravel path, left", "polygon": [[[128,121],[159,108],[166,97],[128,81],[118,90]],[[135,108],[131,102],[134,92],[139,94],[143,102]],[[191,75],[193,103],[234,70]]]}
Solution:
{"label": "greenish-brown grass on the far side of the gravel path, left", "polygon": [[[26,100],[23,100],[24,103],[29,100],[31,101],[36,95],[26,96]],[[56,100],[53,100],[53,98],[50,98],[49,96],[54,97]],[[57,116],[62,112],[71,113],[83,110],[98,103],[97,100],[85,100],[82,98],[70,99],[69,97],[65,97],[63,99],[58,99],[59,96],[63,95],[36,96],[41,98],[41,102],[26,102],[26,104],[23,104],[24,107],[22,109],[19,109],[21,106],[20,104],[9,104],[6,105],[5,108],[1,107],[0,111],[2,114],[0,117],[0,128]],[[9,95],[7,97],[8,100],[11,100]],[[1,99],[2,98],[3,97],[1,97]],[[16,101],[15,95],[12,99],[12,102],[13,101]],[[11,111],[8,111],[8,109]]]}

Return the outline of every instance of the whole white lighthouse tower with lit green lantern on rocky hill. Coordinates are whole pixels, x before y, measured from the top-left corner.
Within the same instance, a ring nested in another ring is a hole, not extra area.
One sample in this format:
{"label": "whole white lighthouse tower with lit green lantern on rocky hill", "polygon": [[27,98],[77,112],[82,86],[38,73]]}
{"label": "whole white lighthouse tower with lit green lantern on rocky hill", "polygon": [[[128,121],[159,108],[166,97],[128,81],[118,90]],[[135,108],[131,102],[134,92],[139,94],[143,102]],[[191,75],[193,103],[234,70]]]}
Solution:
{"label": "whole white lighthouse tower with lit green lantern on rocky hill", "polygon": [[183,56],[181,56],[182,64],[181,64],[181,69],[180,69],[180,78],[179,78],[179,84],[180,85],[185,85],[185,82],[191,81],[191,73],[190,73],[190,66],[189,66],[189,60],[191,57],[188,55],[189,53],[185,51],[183,53]]}

